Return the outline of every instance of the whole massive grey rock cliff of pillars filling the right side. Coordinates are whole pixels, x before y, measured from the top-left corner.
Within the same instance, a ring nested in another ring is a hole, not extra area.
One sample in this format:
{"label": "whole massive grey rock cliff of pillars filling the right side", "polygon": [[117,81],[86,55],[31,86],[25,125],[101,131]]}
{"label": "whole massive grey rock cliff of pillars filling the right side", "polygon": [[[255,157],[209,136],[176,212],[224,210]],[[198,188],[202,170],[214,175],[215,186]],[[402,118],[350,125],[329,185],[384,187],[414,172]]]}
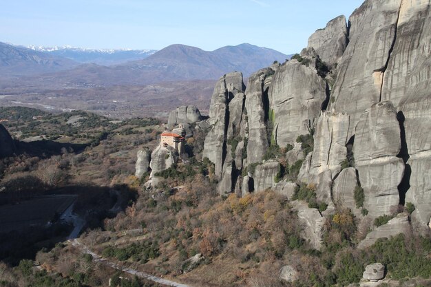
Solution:
{"label": "whole massive grey rock cliff of pillars filling the right side", "polygon": [[411,202],[412,222],[428,228],[430,6],[367,0],[348,23],[341,16],[317,30],[291,61],[252,74],[246,88],[239,73],[223,76],[204,146],[219,192],[281,191],[296,180],[359,218]]}

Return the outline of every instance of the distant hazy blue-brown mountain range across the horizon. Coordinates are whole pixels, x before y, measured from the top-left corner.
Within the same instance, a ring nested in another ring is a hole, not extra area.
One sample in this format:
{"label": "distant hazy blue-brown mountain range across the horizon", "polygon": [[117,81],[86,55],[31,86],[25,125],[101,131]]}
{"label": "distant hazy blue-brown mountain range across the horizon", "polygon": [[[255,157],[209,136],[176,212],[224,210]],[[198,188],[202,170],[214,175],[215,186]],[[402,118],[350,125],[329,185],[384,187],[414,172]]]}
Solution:
{"label": "distant hazy blue-brown mountain range across the horizon", "polygon": [[[285,61],[287,55],[250,44],[204,51],[187,45],[154,50],[89,50],[19,47],[1,43],[0,76],[20,76],[19,83],[43,87],[147,85],[162,81],[216,79],[220,74],[253,71]],[[124,61],[136,59],[136,61]],[[100,65],[100,63],[123,63]],[[25,76],[21,78],[21,76]]]}

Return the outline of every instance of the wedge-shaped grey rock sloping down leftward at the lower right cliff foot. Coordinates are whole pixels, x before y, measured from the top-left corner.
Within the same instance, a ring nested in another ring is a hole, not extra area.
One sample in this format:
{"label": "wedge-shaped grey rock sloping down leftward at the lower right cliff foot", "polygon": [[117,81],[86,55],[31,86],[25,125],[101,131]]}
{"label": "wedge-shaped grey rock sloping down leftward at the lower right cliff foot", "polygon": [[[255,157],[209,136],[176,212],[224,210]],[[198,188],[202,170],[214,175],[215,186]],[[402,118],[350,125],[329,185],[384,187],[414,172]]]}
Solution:
{"label": "wedge-shaped grey rock sloping down leftward at the lower right cliff foot", "polygon": [[407,213],[399,213],[396,217],[389,220],[387,224],[377,227],[374,231],[367,234],[366,238],[359,242],[358,248],[364,249],[372,246],[379,238],[390,238],[399,234],[410,233],[410,222]]}

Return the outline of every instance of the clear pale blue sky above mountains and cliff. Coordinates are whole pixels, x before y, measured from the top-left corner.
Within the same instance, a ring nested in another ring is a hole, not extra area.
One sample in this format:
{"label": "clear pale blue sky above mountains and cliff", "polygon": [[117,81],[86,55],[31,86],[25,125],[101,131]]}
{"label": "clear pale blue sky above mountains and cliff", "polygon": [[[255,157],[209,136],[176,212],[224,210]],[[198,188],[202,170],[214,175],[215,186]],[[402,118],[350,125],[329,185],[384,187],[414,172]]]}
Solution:
{"label": "clear pale blue sky above mountains and cliff", "polygon": [[17,45],[203,50],[251,43],[291,54],[363,0],[2,0],[0,41]]}

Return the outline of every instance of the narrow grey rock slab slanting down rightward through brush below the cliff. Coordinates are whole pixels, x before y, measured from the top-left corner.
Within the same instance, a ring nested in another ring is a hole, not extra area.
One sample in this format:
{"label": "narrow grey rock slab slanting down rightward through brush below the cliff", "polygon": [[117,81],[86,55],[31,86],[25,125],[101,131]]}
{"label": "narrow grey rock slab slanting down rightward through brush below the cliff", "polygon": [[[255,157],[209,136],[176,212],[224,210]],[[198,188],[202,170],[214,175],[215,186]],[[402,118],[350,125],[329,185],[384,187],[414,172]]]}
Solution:
{"label": "narrow grey rock slab slanting down rightward through brush below the cliff", "polygon": [[304,202],[292,202],[293,209],[297,211],[299,222],[304,228],[302,236],[309,240],[310,245],[316,250],[322,247],[322,237],[324,234],[325,217],[317,209],[311,209]]}

